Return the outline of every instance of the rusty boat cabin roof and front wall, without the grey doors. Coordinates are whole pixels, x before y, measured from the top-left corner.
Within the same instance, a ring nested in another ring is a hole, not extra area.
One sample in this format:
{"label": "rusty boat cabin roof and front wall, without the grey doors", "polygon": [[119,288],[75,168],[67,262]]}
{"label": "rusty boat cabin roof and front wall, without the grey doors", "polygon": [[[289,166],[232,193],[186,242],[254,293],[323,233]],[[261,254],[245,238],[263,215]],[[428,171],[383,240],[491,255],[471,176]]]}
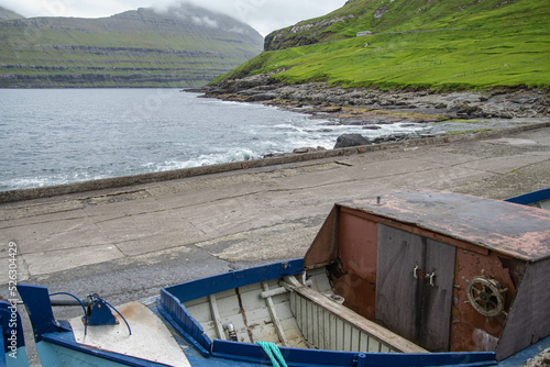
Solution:
{"label": "rusty boat cabin roof and front wall, without the grey doors", "polygon": [[[336,293],[370,320],[375,319],[378,224],[457,247],[451,352],[494,352],[527,264],[550,258],[550,211],[429,190],[338,203],[316,240],[316,259],[332,262]],[[482,276],[506,289],[505,312],[487,318],[466,303],[466,280]]]}

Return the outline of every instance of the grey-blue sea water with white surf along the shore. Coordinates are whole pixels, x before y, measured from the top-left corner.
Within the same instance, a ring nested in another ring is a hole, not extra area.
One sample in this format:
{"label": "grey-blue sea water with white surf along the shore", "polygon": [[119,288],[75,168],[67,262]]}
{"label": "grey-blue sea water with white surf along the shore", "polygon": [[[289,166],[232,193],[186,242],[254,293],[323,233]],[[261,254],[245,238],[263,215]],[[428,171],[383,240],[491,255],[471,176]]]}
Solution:
{"label": "grey-blue sea water with white surf along the shore", "polygon": [[0,191],[332,148],[344,126],[177,89],[0,89]]}

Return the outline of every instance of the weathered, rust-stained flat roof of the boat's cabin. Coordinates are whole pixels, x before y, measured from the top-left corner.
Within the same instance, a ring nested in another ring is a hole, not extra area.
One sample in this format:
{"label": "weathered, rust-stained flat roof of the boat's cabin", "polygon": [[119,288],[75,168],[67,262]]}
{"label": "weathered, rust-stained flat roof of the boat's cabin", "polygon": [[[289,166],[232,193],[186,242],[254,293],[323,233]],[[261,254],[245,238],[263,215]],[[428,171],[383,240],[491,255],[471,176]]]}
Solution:
{"label": "weathered, rust-stained flat roof of the boat's cabin", "polygon": [[418,190],[353,200],[342,207],[537,262],[550,257],[550,211],[509,202]]}

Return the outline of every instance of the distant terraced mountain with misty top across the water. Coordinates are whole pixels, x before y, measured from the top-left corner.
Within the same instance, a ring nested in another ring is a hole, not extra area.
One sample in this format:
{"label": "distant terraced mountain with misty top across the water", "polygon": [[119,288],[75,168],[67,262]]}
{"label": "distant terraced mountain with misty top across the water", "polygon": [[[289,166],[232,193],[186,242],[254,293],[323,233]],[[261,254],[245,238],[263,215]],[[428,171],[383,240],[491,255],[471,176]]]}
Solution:
{"label": "distant terraced mountain with misty top across the water", "polygon": [[200,87],[262,45],[249,25],[188,4],[102,19],[3,19],[0,87]]}

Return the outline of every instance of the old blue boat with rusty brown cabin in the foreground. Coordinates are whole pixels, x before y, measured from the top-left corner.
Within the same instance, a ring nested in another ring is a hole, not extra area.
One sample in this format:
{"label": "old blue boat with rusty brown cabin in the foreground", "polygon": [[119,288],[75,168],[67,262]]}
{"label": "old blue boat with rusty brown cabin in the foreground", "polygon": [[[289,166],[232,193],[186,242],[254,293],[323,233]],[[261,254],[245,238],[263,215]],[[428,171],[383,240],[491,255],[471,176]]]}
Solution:
{"label": "old blue boat with rusty brown cabin in the foreground", "polygon": [[44,366],[516,366],[550,347],[548,274],[550,211],[421,190],[336,204],[302,259],[68,321],[18,290]]}

